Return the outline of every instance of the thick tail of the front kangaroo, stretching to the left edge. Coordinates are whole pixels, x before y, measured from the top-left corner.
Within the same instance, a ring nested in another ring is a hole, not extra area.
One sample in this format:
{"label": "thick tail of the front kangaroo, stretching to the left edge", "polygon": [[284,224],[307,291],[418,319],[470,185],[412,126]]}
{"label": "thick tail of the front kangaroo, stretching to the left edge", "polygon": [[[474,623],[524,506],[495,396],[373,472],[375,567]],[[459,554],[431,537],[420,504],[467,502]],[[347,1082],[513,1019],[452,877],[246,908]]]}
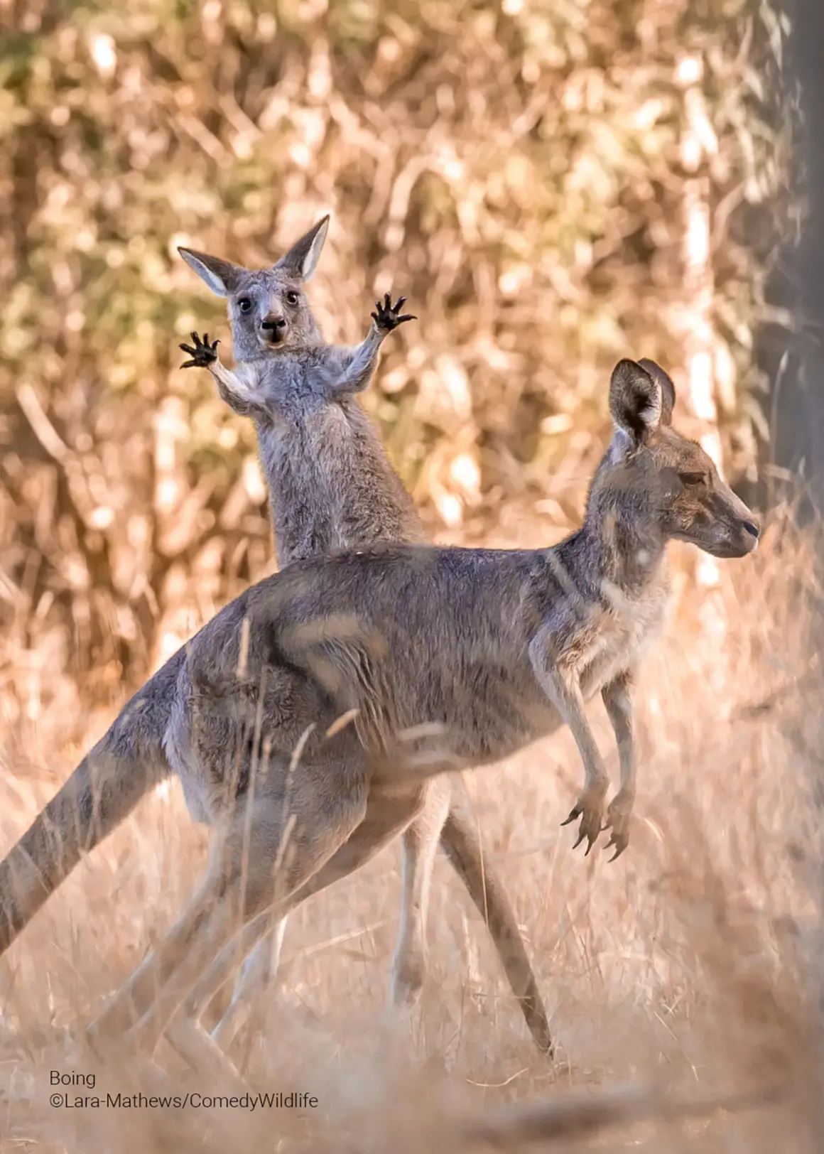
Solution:
{"label": "thick tail of the front kangaroo, stretching to the left edge", "polygon": [[152,685],[152,679],[121,710],[0,862],[0,954],[80,860],[171,773],[163,751],[168,699],[152,692],[171,680],[170,664],[160,670],[165,676],[158,684]]}

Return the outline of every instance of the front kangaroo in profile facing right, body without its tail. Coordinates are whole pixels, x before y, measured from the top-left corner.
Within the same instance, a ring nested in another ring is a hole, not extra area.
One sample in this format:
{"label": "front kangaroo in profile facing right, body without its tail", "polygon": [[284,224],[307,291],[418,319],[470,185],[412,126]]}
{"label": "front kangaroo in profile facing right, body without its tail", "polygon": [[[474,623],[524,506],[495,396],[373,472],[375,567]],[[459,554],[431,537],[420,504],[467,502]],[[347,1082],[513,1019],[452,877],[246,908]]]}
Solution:
{"label": "front kangaroo in profile facing right, body without its tail", "polygon": [[617,364],[615,432],[583,525],[552,548],[375,545],[295,562],[196,635],[166,748],[207,811],[225,814],[227,790],[235,808],[189,907],[92,1033],[138,1021],[133,1036],[153,1049],[212,959],[212,988],[231,972],[240,926],[262,936],[268,911],[285,915],[373,856],[409,824],[420,781],[564,724],[584,764],[574,812],[593,842],[608,786],[584,710],[595,695],[619,743],[606,824],[626,844],[630,688],[661,624],[667,542],[743,557],[759,535],[709,456],[672,428],[674,398],[657,365]]}

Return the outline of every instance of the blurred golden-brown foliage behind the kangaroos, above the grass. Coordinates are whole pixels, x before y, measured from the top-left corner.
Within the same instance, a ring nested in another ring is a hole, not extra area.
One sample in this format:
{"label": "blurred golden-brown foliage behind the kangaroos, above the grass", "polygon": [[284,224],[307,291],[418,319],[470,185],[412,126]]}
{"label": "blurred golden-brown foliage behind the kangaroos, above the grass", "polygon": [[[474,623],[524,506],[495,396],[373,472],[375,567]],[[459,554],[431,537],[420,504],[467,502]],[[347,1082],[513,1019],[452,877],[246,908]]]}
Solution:
{"label": "blurred golden-brown foliage behind the kangaroos, above the grass", "polygon": [[365,403],[421,504],[470,537],[511,500],[572,518],[612,364],[680,367],[687,57],[719,421],[751,469],[781,42],[762,0],[0,0],[6,644],[119,692],[261,575],[253,430],[178,369],[225,316],[174,249],[262,265],[323,210],[328,338],[390,286],[420,317]]}

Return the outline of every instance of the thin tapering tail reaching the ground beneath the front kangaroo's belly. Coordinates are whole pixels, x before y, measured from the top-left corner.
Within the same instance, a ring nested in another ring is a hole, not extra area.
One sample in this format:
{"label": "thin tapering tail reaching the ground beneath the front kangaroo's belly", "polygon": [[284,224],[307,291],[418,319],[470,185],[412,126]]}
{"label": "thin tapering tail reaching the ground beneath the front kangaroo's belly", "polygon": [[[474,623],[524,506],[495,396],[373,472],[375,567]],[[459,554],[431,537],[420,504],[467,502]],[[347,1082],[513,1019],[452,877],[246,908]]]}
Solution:
{"label": "thin tapering tail reaching the ground beneath the front kangaroo's belly", "polygon": [[489,863],[484,862],[480,840],[471,815],[465,807],[455,804],[456,793],[457,790],[454,790],[454,804],[441,832],[441,849],[486,922],[530,1033],[541,1052],[552,1056],[549,1021],[515,913],[501,881]]}

